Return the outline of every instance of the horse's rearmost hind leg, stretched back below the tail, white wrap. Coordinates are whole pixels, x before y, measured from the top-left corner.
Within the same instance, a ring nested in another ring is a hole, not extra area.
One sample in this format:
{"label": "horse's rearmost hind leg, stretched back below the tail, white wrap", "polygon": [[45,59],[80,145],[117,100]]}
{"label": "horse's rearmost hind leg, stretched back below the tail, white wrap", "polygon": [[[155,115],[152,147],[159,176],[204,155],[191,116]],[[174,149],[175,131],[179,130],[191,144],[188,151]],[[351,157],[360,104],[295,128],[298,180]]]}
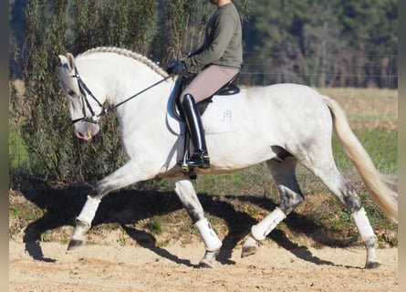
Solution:
{"label": "horse's rearmost hind leg, stretched back below the tail, white wrap", "polygon": [[336,163],[332,158],[332,153],[328,153],[331,158],[327,159],[326,157],[328,157],[328,155],[321,155],[321,151],[322,149],[319,150],[319,157],[324,157],[324,159],[309,159],[304,161],[303,164],[310,171],[314,172],[315,175],[326,184],[328,189],[337,196],[338,200],[347,208],[347,210],[349,210],[349,213],[357,226],[359,236],[367,249],[367,262],[365,268],[380,266],[380,261],[376,255],[376,248],[378,246],[377,237],[373,232],[370,220],[368,219],[364,208],[361,206],[359,195],[354,187],[349,184],[338,171]]}

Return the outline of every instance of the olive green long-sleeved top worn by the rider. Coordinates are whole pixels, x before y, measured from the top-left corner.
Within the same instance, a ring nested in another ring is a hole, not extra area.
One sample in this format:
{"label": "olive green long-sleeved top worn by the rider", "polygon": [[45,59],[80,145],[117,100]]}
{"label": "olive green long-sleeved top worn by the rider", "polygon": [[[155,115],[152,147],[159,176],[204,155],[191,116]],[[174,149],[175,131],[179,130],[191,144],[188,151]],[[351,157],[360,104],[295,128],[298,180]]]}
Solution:
{"label": "olive green long-sleeved top worn by the rider", "polygon": [[203,46],[183,60],[186,68],[208,65],[241,68],[242,37],[241,20],[235,5],[229,3],[219,7],[207,23]]}

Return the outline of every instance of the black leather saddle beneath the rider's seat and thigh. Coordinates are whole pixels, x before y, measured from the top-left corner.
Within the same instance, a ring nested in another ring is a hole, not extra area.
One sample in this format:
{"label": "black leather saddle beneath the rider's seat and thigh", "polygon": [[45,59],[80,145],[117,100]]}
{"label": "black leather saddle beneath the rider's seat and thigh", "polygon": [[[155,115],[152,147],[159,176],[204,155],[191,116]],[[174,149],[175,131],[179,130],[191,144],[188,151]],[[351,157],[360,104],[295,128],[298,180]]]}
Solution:
{"label": "black leather saddle beneath the rider's seat and thigh", "polygon": [[[177,92],[176,98],[172,100],[172,110],[173,113],[176,115],[176,117],[179,120],[184,120],[182,110],[181,109],[181,104],[179,101],[179,95],[185,89],[193,80],[193,78],[196,77],[196,74],[188,74],[184,75],[182,77],[179,77],[178,81],[178,89],[175,89]],[[207,106],[209,105],[210,102],[213,102],[213,96],[214,95],[234,95],[240,92],[240,88],[238,87],[238,78],[239,74],[236,74],[234,78],[232,78],[229,82],[224,84],[224,86],[221,89],[218,89],[211,97],[204,99],[200,102],[198,102],[197,109],[199,110],[200,115],[203,115],[204,110],[207,109]]]}

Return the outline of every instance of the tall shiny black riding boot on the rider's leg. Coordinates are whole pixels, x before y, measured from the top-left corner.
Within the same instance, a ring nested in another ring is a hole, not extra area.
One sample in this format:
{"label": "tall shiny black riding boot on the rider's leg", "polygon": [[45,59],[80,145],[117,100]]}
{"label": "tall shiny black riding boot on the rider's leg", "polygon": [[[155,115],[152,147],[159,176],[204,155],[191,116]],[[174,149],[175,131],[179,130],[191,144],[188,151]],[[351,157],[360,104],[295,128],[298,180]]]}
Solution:
{"label": "tall shiny black riding boot on the rider's leg", "polygon": [[209,168],[210,158],[206,148],[206,141],[204,139],[202,119],[191,94],[186,94],[184,96],[182,110],[194,146],[194,153],[186,163],[190,166]]}

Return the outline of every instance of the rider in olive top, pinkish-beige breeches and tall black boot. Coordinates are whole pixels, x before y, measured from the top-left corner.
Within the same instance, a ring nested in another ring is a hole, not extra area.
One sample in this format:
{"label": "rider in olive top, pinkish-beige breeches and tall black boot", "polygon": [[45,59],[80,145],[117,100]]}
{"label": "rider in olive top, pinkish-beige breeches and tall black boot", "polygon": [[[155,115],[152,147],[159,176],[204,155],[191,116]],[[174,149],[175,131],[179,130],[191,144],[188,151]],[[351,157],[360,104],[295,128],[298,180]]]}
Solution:
{"label": "rider in olive top, pinkish-beige breeches and tall black boot", "polygon": [[203,46],[188,57],[172,60],[169,74],[200,72],[182,91],[180,103],[192,136],[194,152],[188,165],[209,168],[210,158],[196,103],[211,97],[238,74],[243,62],[241,19],[232,0],[210,0],[217,10],[207,23]]}

